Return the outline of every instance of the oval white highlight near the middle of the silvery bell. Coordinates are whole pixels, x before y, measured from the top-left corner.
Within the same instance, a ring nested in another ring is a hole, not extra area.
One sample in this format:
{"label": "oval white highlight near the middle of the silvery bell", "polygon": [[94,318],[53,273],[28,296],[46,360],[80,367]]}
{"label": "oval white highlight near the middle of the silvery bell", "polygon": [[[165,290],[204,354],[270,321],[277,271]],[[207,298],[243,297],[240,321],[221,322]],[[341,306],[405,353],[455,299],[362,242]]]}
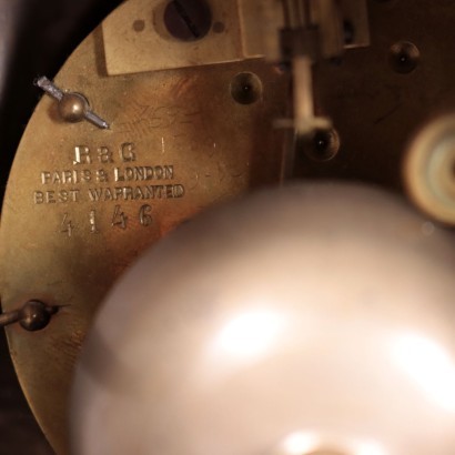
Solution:
{"label": "oval white highlight near the middle of the silvery bell", "polygon": [[243,313],[224,325],[216,345],[231,355],[255,356],[269,350],[283,326],[284,320],[280,313],[271,311]]}

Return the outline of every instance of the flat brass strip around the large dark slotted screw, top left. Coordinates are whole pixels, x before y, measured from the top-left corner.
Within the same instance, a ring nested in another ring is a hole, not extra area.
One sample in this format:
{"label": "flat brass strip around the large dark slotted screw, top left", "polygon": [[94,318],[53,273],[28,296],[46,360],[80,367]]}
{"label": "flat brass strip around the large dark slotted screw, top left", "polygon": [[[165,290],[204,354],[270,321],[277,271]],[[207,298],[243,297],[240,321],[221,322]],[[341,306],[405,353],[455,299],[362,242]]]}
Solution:
{"label": "flat brass strip around the large dark slotted screw, top left", "polygon": [[166,2],[127,2],[103,22],[108,73],[129,74],[244,59],[239,0],[208,0],[206,3],[213,27],[202,40],[186,41],[168,30]]}

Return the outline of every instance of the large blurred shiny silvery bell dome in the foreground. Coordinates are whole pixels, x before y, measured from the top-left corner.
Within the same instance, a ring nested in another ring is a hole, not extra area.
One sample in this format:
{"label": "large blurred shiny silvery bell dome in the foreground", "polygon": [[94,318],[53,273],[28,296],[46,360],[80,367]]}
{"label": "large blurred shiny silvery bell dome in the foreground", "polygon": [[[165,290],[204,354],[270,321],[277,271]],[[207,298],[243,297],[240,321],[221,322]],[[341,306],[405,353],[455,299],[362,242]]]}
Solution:
{"label": "large blurred shiny silvery bell dome in the foreground", "polygon": [[455,246],[380,191],[269,191],[179,228],[99,313],[75,455],[455,453]]}

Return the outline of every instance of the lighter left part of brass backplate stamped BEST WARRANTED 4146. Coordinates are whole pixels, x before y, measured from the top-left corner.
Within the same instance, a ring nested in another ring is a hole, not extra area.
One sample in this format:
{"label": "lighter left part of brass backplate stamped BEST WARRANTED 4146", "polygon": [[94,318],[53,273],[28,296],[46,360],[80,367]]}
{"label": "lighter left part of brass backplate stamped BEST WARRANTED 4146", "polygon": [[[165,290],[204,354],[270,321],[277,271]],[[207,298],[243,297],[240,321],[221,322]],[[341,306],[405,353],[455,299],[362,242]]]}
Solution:
{"label": "lighter left part of brass backplate stamped BEST WARRANTED 4146", "polygon": [[[132,27],[136,18],[123,19]],[[231,95],[239,73],[261,81],[250,104]],[[4,199],[0,290],[4,311],[32,299],[69,305],[42,331],[8,328],[24,393],[64,454],[73,364],[99,302],[145,246],[183,220],[279,180],[283,132],[271,124],[286,112],[289,78],[261,60],[108,77],[99,28],[55,84],[83,93],[111,129],[65,123],[58,103],[41,99]]]}

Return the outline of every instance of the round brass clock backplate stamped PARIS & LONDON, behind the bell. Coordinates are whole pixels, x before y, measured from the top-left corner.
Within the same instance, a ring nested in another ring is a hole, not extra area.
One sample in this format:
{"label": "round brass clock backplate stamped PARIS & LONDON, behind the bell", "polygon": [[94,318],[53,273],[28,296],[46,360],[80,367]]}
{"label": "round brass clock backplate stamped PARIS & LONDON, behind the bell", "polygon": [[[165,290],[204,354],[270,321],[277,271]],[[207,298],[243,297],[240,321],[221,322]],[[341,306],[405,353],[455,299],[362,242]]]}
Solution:
{"label": "round brass clock backplate stamped PARIS & LONDON, behind the bell", "polygon": [[[311,114],[330,119],[333,130],[310,148],[296,142],[295,159],[287,160],[292,133],[274,124],[292,117],[290,88],[299,84],[257,47],[255,8],[277,2],[205,3],[209,12],[198,11],[190,23],[176,20],[175,2],[129,0],[52,82],[37,81],[47,94],[8,183],[0,291],[7,313],[30,301],[58,309],[40,331],[12,324],[7,334],[23,391],[59,454],[69,449],[68,397],[85,333],[144,249],[209,206],[277,184],[291,161],[293,178],[354,180],[403,193],[415,178],[403,176],[412,173],[403,166],[412,140],[455,105],[453,1],[333,2],[362,3],[365,14],[353,16],[351,30],[360,42],[345,46],[340,60],[305,67],[314,82]],[[264,22],[270,30],[272,16]],[[125,301],[123,311],[135,309]]]}

